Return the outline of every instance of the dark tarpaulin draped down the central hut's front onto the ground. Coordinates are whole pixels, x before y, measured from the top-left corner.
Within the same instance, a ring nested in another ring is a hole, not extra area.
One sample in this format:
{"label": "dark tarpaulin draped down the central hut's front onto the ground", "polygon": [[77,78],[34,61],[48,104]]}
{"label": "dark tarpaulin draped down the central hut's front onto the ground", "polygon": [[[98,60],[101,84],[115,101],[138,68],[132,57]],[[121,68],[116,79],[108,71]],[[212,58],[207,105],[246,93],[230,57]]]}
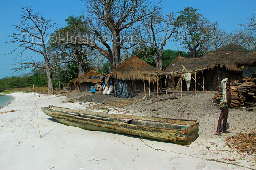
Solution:
{"label": "dark tarpaulin draped down the central hut's front onto the ground", "polygon": [[125,81],[116,80],[116,97],[118,98],[133,98],[138,94],[131,93]]}

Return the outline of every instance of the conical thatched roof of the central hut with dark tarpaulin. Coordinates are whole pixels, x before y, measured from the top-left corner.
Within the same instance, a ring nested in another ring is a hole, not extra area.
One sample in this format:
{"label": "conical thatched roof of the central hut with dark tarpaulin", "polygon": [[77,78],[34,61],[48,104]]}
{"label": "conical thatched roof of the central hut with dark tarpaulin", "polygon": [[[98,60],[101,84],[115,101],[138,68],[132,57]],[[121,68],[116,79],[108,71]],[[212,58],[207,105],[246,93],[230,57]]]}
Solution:
{"label": "conical thatched roof of the central hut with dark tarpaulin", "polygon": [[128,81],[143,80],[143,74],[155,74],[155,72],[164,73],[162,70],[143,62],[138,57],[131,56],[108,75],[107,82],[109,82],[110,78]]}

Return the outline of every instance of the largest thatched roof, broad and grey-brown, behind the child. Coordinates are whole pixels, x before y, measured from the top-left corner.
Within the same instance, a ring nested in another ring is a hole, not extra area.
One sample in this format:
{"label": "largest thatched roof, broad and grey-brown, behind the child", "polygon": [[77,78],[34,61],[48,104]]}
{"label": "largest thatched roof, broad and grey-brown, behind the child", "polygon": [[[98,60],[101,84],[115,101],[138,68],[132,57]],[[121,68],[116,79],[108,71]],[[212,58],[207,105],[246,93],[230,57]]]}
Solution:
{"label": "largest thatched roof, broad and grey-brown, behind the child", "polygon": [[192,62],[191,65],[195,69],[208,68],[208,70],[213,70],[214,67],[219,66],[221,68],[226,67],[229,71],[242,72],[243,68],[236,67],[234,61],[236,59],[244,58],[250,51],[251,50],[236,44],[222,46],[221,48],[202,56],[197,61]]}

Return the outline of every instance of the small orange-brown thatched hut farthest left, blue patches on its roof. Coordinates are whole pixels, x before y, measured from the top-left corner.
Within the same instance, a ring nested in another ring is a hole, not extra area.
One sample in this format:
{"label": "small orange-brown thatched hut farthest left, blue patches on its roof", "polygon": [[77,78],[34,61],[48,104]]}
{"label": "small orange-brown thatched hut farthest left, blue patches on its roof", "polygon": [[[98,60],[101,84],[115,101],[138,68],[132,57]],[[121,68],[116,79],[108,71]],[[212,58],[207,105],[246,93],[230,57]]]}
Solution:
{"label": "small orange-brown thatched hut farthest left, blue patches on its roof", "polygon": [[99,74],[97,71],[92,69],[86,74],[82,74],[76,78],[74,84],[79,85],[81,91],[89,91],[91,90],[91,86],[94,86],[97,83],[101,83],[102,78],[102,74]]}

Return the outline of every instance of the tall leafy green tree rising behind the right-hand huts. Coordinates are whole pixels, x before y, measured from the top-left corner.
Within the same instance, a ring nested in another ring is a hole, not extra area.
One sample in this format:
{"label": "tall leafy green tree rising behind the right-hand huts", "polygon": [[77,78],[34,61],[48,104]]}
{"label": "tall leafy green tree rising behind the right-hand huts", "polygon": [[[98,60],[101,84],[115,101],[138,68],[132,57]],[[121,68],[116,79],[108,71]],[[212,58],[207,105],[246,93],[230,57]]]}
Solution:
{"label": "tall leafy green tree rising behind the right-hand huts", "polygon": [[180,45],[190,52],[190,57],[197,57],[200,51],[211,45],[208,42],[216,38],[212,35],[218,25],[207,21],[197,10],[186,7],[178,12],[180,15],[174,24],[178,32],[176,41],[181,41]]}

